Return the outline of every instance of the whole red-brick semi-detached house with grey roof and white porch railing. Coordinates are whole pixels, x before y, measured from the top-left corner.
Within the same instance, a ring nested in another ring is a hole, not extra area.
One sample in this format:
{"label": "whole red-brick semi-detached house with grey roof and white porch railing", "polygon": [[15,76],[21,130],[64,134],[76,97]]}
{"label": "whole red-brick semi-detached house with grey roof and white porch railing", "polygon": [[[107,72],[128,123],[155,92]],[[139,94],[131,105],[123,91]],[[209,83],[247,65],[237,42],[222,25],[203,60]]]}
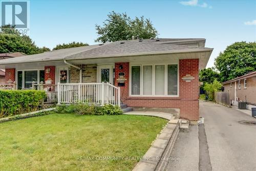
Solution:
{"label": "whole red-brick semi-detached house with grey roof and white porch railing", "polygon": [[58,83],[59,103],[114,101],[198,120],[199,70],[213,50],[204,46],[202,38],[123,40],[4,59],[0,68],[18,89]]}

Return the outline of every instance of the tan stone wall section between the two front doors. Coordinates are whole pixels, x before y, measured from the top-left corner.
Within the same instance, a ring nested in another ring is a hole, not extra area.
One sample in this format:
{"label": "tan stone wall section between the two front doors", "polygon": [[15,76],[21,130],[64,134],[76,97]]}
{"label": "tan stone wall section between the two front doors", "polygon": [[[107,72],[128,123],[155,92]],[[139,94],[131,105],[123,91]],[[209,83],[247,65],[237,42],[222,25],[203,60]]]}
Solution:
{"label": "tan stone wall section between the two front doors", "polygon": [[[81,67],[81,65],[77,65]],[[70,82],[80,82],[80,70],[74,67],[70,68]],[[97,82],[97,65],[82,65],[82,82]]]}

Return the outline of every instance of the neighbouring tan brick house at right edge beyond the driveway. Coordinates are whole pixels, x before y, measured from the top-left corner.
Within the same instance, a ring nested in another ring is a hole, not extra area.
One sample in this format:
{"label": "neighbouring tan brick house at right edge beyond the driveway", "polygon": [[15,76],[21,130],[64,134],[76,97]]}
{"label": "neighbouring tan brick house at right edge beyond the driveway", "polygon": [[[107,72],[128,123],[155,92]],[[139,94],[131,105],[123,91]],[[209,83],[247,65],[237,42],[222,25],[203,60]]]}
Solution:
{"label": "neighbouring tan brick house at right edge beyond the driveway", "polygon": [[246,101],[246,108],[256,107],[256,71],[225,81],[224,91],[229,92],[230,103],[237,106],[239,101]]}

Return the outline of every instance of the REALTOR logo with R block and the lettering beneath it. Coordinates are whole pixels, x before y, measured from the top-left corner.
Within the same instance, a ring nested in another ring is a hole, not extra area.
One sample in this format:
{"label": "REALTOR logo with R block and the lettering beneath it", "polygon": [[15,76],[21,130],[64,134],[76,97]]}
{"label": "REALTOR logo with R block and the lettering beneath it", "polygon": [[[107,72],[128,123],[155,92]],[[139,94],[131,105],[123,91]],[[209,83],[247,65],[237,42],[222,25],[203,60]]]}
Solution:
{"label": "REALTOR logo with R block and the lettering beneath it", "polygon": [[[30,2],[0,0],[1,33],[29,34]],[[11,29],[12,28],[12,29]]]}

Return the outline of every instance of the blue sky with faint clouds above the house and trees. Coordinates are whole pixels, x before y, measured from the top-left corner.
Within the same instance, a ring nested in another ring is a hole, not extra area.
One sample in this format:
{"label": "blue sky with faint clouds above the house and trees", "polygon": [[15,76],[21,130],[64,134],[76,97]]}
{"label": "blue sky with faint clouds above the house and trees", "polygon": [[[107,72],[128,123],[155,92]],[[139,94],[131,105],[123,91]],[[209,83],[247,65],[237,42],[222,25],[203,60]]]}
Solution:
{"label": "blue sky with faint clouds above the house and trees", "polygon": [[39,47],[72,41],[96,44],[95,24],[109,12],[150,18],[159,38],[206,38],[208,67],[236,41],[256,41],[256,1],[30,1],[30,37]]}

